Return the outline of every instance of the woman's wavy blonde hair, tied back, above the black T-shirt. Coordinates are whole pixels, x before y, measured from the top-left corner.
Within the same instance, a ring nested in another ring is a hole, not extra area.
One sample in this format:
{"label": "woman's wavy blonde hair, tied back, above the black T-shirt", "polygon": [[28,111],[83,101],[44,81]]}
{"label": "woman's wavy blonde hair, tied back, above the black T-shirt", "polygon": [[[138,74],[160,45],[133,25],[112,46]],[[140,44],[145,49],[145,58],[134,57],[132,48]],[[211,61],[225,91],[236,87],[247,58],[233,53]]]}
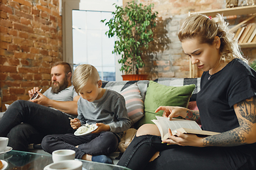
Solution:
{"label": "woman's wavy blonde hair, tied back, above the black T-shirt", "polygon": [[220,14],[217,14],[215,18],[202,14],[188,16],[178,31],[178,38],[181,42],[188,38],[199,38],[202,44],[213,45],[216,36],[220,38],[220,60],[230,62],[234,58],[240,58],[248,63],[242,57],[238,41],[234,38],[235,34],[228,31],[228,23]]}

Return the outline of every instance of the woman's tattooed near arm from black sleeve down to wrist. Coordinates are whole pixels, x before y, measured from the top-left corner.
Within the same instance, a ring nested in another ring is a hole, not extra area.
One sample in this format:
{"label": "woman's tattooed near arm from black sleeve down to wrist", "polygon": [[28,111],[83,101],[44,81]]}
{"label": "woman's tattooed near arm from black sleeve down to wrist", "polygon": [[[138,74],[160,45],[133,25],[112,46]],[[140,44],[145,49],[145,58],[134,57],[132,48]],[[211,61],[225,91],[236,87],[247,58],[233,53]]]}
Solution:
{"label": "woman's tattooed near arm from black sleeve down to wrist", "polygon": [[209,136],[203,139],[204,146],[232,147],[246,144],[245,134],[252,131],[252,124],[256,123],[255,106],[256,98],[252,97],[237,104],[239,114],[239,127],[219,135]]}

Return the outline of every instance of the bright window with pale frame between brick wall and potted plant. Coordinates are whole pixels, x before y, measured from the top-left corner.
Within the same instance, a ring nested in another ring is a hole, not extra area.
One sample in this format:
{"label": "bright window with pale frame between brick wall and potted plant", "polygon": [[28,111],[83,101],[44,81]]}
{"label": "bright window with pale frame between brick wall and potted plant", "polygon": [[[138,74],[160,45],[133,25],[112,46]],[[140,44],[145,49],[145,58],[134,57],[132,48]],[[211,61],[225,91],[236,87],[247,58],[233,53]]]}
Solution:
{"label": "bright window with pale frame between brick wall and potted plant", "polygon": [[114,38],[105,35],[109,28],[100,22],[112,17],[112,4],[122,6],[122,1],[63,1],[63,60],[74,68],[92,64],[102,80],[122,81],[117,62],[120,56],[112,54]]}

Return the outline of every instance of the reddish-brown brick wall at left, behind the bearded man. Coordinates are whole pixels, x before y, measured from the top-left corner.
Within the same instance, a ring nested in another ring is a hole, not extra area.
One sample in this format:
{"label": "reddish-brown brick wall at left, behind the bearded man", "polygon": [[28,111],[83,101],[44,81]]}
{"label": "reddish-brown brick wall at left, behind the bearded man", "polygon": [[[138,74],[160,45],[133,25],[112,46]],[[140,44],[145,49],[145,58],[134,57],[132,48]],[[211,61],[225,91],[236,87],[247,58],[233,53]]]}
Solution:
{"label": "reddish-brown brick wall at left, behind the bearded man", "polygon": [[50,66],[62,60],[58,6],[58,0],[1,0],[1,111],[5,103],[28,100],[33,86],[50,86]]}

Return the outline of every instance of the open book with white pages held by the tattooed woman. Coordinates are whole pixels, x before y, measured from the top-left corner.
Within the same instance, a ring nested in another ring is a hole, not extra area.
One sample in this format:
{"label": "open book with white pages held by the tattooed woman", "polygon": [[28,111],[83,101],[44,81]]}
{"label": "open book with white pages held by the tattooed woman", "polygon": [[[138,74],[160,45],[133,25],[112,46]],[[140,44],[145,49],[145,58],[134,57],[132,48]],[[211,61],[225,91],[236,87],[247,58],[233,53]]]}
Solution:
{"label": "open book with white pages held by the tattooed woman", "polygon": [[172,118],[164,118],[161,116],[156,116],[156,120],[151,120],[156,124],[157,128],[159,128],[159,132],[161,134],[161,140],[166,140],[168,135],[168,129],[171,129],[173,135],[176,135],[177,130],[182,133],[191,133],[196,135],[217,135],[219,132],[210,132],[206,130],[202,130],[200,126],[193,120],[184,120]]}

